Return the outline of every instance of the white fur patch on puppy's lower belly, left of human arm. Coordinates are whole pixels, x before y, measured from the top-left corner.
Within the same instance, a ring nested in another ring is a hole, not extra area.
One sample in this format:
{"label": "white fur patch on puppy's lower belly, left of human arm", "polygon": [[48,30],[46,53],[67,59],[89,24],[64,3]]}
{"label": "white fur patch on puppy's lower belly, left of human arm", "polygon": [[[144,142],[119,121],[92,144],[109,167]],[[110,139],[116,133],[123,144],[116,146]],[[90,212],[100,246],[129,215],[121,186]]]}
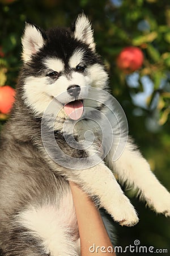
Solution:
{"label": "white fur patch on puppy's lower belly, left of human arm", "polygon": [[55,204],[30,207],[18,214],[16,223],[27,229],[33,239],[39,239],[44,255],[79,255],[78,226],[71,192],[63,197],[59,208]]}

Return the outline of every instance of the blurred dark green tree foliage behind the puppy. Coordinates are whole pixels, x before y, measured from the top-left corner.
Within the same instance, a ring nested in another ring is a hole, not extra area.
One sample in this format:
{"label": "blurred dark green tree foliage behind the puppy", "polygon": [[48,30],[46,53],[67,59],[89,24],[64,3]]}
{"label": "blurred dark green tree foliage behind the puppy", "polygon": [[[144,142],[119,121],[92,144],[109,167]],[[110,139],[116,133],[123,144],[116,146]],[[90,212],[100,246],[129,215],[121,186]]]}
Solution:
{"label": "blurred dark green tree foliage behind the puppy", "polygon": [[[3,3],[2,3],[3,2]],[[70,26],[84,10],[95,29],[97,52],[103,56],[111,78],[111,91],[128,117],[130,134],[149,160],[152,170],[169,187],[170,166],[170,5],[169,0],[15,0],[10,5],[0,0],[0,86],[15,87],[19,72],[20,37],[25,20],[40,27]],[[114,3],[120,3],[114,5]],[[137,71],[137,86],[118,70],[116,58],[126,46],[142,49],[145,61]],[[4,54],[3,54],[4,53]],[[4,56],[3,56],[4,55]],[[143,102],[134,103],[133,93],[145,93]],[[4,121],[0,122],[0,129]],[[170,189],[170,187],[169,187]],[[130,194],[131,195],[131,194]],[[146,210],[134,201],[141,222],[134,228],[118,228],[119,244],[129,245],[135,239],[143,245],[168,248],[169,220]],[[169,248],[170,250],[170,248]],[[129,255],[129,254],[126,254]]]}

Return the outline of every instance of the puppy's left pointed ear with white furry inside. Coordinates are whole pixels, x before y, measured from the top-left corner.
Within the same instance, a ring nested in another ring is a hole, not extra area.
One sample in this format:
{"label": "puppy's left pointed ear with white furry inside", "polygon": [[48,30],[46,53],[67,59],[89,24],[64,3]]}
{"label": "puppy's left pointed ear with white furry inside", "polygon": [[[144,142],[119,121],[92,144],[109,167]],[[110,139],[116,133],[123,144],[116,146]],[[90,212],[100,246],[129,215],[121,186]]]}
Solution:
{"label": "puppy's left pointed ear with white furry inside", "polygon": [[26,62],[31,59],[45,43],[45,39],[42,36],[42,32],[36,26],[25,23],[24,34],[22,37],[22,59]]}

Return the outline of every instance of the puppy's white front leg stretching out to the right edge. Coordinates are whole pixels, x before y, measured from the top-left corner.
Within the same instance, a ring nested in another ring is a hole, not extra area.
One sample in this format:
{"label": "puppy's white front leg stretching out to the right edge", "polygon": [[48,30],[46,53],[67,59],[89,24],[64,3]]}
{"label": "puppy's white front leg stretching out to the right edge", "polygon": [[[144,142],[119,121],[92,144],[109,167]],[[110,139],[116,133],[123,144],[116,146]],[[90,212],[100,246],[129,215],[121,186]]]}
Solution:
{"label": "puppy's white front leg stretching out to the right edge", "polygon": [[149,164],[135,146],[128,142],[124,152],[115,162],[113,162],[113,152],[112,148],[107,162],[109,167],[118,175],[118,179],[138,188],[141,197],[156,212],[170,216],[170,194],[156,179]]}

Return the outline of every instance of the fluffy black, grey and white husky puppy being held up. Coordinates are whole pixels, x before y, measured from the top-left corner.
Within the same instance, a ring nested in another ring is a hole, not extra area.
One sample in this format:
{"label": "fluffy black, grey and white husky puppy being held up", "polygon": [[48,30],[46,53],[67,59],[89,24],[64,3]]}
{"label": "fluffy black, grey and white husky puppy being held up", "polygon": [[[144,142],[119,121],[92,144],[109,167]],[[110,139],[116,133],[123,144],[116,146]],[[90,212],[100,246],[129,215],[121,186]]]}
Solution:
{"label": "fluffy black, grey and white husky puppy being held up", "polygon": [[[155,212],[169,216],[168,191],[134,144],[126,142],[125,131],[122,137],[126,143],[119,157],[113,160],[117,137],[113,138],[108,154],[101,156],[105,145],[100,147],[101,133],[96,120],[107,116],[105,121],[99,121],[101,127],[109,120],[114,130],[117,124],[114,125],[105,107],[109,102],[104,93],[108,75],[95,52],[88,18],[81,14],[72,28],[48,31],[26,24],[22,45],[23,67],[16,86],[16,101],[1,134],[3,255],[80,254],[69,180],[121,225],[137,224],[138,216],[114,174],[120,182],[137,188]],[[88,130],[95,134],[89,147],[83,144]],[[53,147],[51,135],[60,150]],[[107,136],[106,145],[111,133]]]}

